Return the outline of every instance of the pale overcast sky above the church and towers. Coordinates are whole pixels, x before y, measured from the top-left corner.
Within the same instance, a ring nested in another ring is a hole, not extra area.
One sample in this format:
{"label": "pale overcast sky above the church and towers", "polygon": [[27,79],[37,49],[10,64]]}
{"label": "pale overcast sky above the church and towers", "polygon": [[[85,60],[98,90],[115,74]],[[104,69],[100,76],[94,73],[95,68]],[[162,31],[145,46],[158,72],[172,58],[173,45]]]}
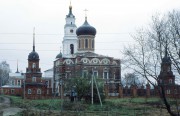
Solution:
{"label": "pale overcast sky above the church and towers", "polygon": [[[0,0],[0,61],[24,72],[32,51],[33,28],[41,71],[53,67],[62,47],[70,0]],[[71,0],[77,27],[87,20],[96,28],[95,53],[121,59],[131,35],[147,27],[152,15],[180,10],[180,0]]]}

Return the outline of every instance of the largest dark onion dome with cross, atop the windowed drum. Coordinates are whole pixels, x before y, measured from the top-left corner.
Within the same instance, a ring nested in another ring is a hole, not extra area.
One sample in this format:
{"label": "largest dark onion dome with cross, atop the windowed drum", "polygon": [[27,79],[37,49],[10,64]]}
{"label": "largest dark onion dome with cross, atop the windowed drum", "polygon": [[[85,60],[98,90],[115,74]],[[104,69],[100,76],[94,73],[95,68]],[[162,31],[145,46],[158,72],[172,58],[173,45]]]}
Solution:
{"label": "largest dark onion dome with cross, atop the windowed drum", "polygon": [[76,30],[76,35],[96,35],[96,29],[89,25],[87,22],[87,18],[85,19],[85,22],[82,26],[80,26],[79,28],[77,28]]}

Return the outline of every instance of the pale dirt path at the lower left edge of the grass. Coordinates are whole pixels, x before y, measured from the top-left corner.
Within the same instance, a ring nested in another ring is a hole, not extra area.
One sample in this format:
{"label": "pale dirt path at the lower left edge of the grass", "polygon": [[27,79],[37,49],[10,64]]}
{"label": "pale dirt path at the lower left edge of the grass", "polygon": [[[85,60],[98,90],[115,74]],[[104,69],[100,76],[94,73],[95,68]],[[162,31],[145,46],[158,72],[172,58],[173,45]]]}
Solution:
{"label": "pale dirt path at the lower left edge of the grass", "polygon": [[[10,116],[21,112],[23,109],[10,106],[10,99],[3,97],[0,103],[0,116]],[[2,114],[3,112],[3,114]]]}

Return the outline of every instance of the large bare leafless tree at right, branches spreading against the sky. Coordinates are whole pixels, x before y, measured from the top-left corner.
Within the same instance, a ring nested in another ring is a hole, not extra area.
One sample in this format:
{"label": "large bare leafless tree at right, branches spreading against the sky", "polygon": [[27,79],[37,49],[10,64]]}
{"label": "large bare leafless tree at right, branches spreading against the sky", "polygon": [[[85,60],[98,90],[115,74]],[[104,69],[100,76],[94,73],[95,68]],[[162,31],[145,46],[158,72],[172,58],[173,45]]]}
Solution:
{"label": "large bare leafless tree at right, branches spreading against the sky", "polygon": [[[180,11],[174,10],[167,14],[152,16],[150,25],[137,30],[132,36],[134,45],[123,50],[123,65],[135,71],[136,74],[147,79],[154,87],[158,83],[161,61],[167,44],[168,55],[172,61],[172,71],[177,77],[180,75]],[[165,97],[165,96],[164,96]],[[176,115],[165,99],[163,101],[168,112]]]}

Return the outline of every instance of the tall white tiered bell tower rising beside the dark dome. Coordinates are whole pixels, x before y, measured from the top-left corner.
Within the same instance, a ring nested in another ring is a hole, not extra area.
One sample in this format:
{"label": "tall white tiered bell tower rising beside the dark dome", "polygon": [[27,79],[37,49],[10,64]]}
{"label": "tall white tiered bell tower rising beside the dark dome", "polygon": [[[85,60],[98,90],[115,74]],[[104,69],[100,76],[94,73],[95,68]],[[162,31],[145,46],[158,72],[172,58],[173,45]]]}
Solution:
{"label": "tall white tiered bell tower rising beside the dark dome", "polygon": [[76,36],[75,16],[72,14],[72,6],[69,6],[69,14],[66,15],[66,24],[64,26],[63,37],[63,55],[71,54],[71,46],[73,53],[77,52],[77,36]]}

